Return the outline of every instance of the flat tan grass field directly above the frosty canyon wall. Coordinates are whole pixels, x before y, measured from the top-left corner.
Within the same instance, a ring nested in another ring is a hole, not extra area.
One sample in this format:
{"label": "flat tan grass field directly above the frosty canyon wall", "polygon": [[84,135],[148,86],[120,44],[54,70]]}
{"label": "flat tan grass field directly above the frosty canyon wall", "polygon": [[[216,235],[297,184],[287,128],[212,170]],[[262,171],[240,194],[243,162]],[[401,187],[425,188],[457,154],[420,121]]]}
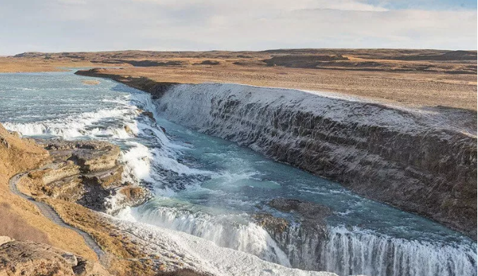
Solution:
{"label": "flat tan grass field directly above the frosty canyon wall", "polygon": [[286,67],[127,67],[106,69],[119,76],[144,76],[165,83],[242,83],[364,97],[411,106],[477,110],[477,76],[443,73],[317,70]]}

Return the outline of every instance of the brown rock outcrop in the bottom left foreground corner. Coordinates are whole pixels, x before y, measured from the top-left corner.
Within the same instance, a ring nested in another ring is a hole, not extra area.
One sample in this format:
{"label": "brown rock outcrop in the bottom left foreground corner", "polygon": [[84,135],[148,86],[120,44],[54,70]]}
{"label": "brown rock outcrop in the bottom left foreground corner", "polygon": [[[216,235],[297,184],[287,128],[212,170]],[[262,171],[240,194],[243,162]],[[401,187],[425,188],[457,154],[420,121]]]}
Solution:
{"label": "brown rock outcrop in the bottom left foreground corner", "polygon": [[99,263],[34,241],[0,245],[0,275],[108,276]]}

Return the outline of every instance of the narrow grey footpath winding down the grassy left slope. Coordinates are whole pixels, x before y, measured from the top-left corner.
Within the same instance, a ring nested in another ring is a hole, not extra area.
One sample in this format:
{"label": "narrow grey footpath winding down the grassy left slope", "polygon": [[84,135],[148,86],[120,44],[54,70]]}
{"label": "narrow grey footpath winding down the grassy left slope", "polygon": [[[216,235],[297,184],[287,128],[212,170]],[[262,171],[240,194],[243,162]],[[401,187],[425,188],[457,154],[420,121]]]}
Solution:
{"label": "narrow grey footpath winding down the grassy left slope", "polygon": [[93,237],[90,236],[90,234],[84,232],[83,230],[81,229],[78,229],[78,228],[75,228],[75,227],[71,227],[71,225],[69,224],[66,224],[62,218],[58,215],[57,212],[55,212],[55,210],[53,210],[52,207],[50,207],[49,205],[47,205],[46,203],[42,203],[42,202],[39,202],[39,201],[36,201],[34,198],[30,197],[30,196],[27,196],[25,195],[24,193],[22,193],[21,191],[18,191],[18,188],[17,188],[17,183],[18,181],[25,175],[25,174],[28,174],[28,172],[21,172],[19,174],[16,174],[14,176],[11,177],[11,179],[8,181],[8,185],[10,186],[10,191],[17,195],[17,196],[21,196],[22,198],[25,198],[26,200],[29,200],[31,203],[37,205],[38,209],[40,209],[40,212],[42,212],[42,214],[47,217],[49,220],[52,220],[52,222],[58,224],[59,226],[61,227],[65,227],[65,228],[68,228],[68,229],[71,229],[73,230],[74,232],[80,234],[81,236],[83,236],[83,239],[85,239],[85,244],[91,248],[93,251],[95,251],[96,253],[96,256],[98,256],[98,260],[103,260],[103,256],[105,256],[105,252],[103,251],[103,249],[101,249],[101,247],[96,243],[96,241],[93,239]]}

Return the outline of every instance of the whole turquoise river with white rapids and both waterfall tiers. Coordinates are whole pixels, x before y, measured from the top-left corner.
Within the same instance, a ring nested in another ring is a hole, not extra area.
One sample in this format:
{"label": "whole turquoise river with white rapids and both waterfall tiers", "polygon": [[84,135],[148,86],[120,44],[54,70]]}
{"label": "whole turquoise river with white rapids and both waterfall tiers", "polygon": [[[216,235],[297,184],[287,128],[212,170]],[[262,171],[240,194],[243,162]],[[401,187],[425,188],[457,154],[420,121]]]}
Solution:
{"label": "whole turquoise river with white rapids and both waterfall tiers", "polygon": [[[122,148],[124,177],[155,197],[117,214],[284,266],[339,275],[477,275],[477,244],[416,215],[361,198],[327,179],[167,121],[151,97],[71,73],[0,74],[0,122],[23,136],[101,139]],[[141,110],[155,113],[155,119]],[[166,133],[161,131],[164,127]],[[327,205],[326,237],[304,232],[273,198]],[[291,221],[269,233],[252,215]]]}

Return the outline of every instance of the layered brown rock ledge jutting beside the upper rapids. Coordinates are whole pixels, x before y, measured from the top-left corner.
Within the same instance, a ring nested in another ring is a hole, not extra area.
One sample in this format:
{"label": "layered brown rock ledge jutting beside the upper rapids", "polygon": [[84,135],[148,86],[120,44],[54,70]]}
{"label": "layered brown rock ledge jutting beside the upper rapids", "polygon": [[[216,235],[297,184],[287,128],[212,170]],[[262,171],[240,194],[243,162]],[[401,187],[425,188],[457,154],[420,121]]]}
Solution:
{"label": "layered brown rock ledge jutting beside the upper rapids", "polygon": [[[40,180],[40,186],[30,187],[35,195],[68,200],[103,212],[141,205],[150,198],[145,188],[122,181],[117,145],[101,141],[37,142],[49,151],[54,162],[29,173],[30,178]],[[118,193],[119,199],[112,200]]]}

